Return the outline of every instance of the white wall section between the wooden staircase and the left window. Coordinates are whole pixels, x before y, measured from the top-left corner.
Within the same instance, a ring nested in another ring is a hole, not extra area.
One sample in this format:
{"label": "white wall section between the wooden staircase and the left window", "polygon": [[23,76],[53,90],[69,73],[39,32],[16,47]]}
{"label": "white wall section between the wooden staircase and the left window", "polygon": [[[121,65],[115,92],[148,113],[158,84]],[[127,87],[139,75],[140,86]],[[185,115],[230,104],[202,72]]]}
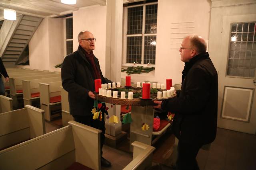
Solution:
{"label": "white wall section between the wooden staircase and the left window", "polygon": [[28,45],[30,69],[60,71],[54,66],[64,59],[63,19],[44,18]]}

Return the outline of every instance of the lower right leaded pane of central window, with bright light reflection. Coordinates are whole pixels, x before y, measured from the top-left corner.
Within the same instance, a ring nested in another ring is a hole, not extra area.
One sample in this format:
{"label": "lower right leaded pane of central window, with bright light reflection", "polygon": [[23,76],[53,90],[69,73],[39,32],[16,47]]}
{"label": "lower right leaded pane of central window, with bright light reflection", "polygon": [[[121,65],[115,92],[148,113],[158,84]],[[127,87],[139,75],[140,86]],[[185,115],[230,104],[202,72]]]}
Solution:
{"label": "lower right leaded pane of central window, with bright light reflection", "polygon": [[155,64],[156,61],[156,35],[144,38],[144,64]]}

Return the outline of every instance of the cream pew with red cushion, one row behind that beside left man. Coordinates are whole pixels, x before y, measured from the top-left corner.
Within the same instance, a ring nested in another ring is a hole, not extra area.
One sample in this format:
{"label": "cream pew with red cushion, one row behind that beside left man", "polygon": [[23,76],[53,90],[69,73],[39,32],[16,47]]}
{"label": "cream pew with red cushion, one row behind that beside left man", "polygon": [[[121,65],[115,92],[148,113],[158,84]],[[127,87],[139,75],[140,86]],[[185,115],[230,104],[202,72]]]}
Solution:
{"label": "cream pew with red cushion, one row behind that beside left man", "polygon": [[40,99],[39,83],[61,81],[61,77],[22,80],[24,105],[32,105],[32,100]]}

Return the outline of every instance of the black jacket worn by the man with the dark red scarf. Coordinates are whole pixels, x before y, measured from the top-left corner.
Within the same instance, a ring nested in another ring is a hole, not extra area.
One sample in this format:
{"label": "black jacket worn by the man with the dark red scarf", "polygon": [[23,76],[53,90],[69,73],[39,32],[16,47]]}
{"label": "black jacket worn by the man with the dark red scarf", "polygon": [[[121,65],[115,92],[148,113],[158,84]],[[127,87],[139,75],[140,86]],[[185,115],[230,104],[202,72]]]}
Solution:
{"label": "black jacket worn by the man with the dark red scarf", "polygon": [[[88,92],[94,92],[94,74],[91,64],[84,53],[78,50],[66,56],[61,67],[62,86],[68,92],[70,114],[90,115],[94,100],[88,96]],[[102,84],[111,81],[104,78],[100,70],[98,59],[94,56],[96,68],[100,71]]]}

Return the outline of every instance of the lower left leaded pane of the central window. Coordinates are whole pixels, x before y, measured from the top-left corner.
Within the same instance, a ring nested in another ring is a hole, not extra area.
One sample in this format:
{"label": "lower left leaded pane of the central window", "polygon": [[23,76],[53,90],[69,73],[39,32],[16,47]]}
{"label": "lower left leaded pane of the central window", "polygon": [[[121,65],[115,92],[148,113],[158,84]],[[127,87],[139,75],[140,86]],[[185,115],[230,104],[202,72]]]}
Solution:
{"label": "lower left leaded pane of the central window", "polygon": [[126,63],[141,64],[142,37],[127,37]]}

